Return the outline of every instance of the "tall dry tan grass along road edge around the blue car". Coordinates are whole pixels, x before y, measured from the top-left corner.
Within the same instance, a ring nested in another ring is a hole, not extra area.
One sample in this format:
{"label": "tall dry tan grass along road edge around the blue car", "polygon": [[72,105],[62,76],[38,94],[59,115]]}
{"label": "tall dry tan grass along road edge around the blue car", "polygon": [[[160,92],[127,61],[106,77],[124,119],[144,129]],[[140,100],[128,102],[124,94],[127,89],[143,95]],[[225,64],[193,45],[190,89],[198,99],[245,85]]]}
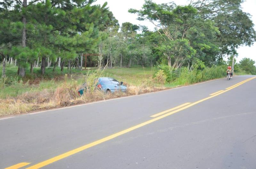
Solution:
{"label": "tall dry tan grass along road edge around the blue car", "polygon": [[[30,90],[13,98],[0,99],[0,116],[61,107],[61,102],[69,102],[70,104],[68,105],[73,103],[76,104],[75,101],[81,101],[78,103],[95,102],[129,95],[140,95],[164,89],[156,87],[155,79],[150,77],[143,79],[141,84],[136,86],[132,84],[125,84],[127,86],[126,92],[117,91],[115,93],[104,93],[95,88],[97,83],[95,79],[102,76],[104,69],[89,71],[86,75],[81,75],[79,78],[76,77],[76,79],[73,79],[72,76],[68,77],[66,74],[63,82],[54,90]],[[82,81],[85,82],[84,87],[86,87],[87,90],[84,92],[84,95],[80,96],[78,95],[78,90],[82,85]],[[28,84],[19,83],[19,85]]]}

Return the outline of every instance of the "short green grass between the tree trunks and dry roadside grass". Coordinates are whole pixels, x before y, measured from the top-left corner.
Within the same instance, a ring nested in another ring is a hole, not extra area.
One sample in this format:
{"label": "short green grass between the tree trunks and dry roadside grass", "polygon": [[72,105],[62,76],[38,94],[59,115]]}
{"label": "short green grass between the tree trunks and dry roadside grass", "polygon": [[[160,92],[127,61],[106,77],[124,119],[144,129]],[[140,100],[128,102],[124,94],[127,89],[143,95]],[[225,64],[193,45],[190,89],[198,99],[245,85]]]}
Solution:
{"label": "short green grass between the tree trunks and dry roadside grass", "polygon": [[[96,70],[75,70],[71,72],[65,67],[63,71],[60,71],[59,67],[56,67],[55,72],[52,72],[51,68],[46,68],[45,75],[42,76],[40,67],[34,68],[34,73],[31,74],[29,70],[26,70],[26,76],[20,78],[17,75],[18,67],[6,66],[5,74],[7,76],[5,88],[0,90],[0,99],[15,98],[25,92],[40,92],[40,91],[54,91],[64,81],[71,83],[77,81],[78,85],[85,82],[85,75],[87,73]],[[2,76],[2,67],[0,67]],[[68,76],[65,78],[65,74]],[[140,85],[151,77],[154,72],[151,68],[106,68],[102,76],[113,77],[118,81],[123,81],[126,84]]]}

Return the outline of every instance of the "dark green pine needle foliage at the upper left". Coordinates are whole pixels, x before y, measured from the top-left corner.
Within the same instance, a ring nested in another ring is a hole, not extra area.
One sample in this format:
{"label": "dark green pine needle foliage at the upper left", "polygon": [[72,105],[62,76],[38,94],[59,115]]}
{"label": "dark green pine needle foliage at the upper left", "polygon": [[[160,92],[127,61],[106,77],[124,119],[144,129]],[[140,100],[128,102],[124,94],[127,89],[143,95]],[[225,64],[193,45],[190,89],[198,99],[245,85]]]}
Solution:
{"label": "dark green pine needle foliage at the upper left", "polygon": [[[29,64],[33,68],[37,57],[52,61],[60,57],[65,64],[65,60],[73,60],[77,54],[93,51],[107,38],[99,30],[118,26],[118,21],[106,7],[107,3],[100,6],[92,2],[44,0],[20,6],[19,1],[4,0],[4,10],[0,10],[0,45],[10,43],[13,49],[4,47],[8,52],[1,48],[0,52],[4,57],[17,59],[22,68]],[[21,22],[22,17],[26,18],[26,24]],[[20,47],[23,29],[27,46],[23,45],[24,49]]]}

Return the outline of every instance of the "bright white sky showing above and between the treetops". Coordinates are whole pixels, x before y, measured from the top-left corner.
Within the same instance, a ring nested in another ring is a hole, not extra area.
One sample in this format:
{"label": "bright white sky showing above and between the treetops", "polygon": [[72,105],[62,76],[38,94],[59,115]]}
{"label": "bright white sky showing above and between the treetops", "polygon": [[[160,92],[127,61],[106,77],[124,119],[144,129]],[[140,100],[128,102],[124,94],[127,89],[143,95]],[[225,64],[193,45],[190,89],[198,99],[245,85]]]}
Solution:
{"label": "bright white sky showing above and between the treetops", "polygon": [[[175,2],[177,5],[186,5],[189,4],[188,0],[153,0],[157,4]],[[138,21],[136,14],[131,14],[128,12],[130,8],[141,9],[144,4],[144,0],[97,0],[95,4],[104,4],[108,2],[109,10],[113,12],[116,19],[119,21],[119,24],[122,25],[124,22],[130,22],[136,25],[146,25],[148,29],[153,30],[154,25],[148,21]],[[246,0],[243,4],[243,11],[250,13],[252,15],[252,21],[254,23],[254,29],[256,29],[256,0]],[[256,61],[256,44],[253,46],[241,46],[237,50],[238,57],[237,62],[239,62],[244,57],[251,58]],[[256,65],[256,63],[255,63]]]}

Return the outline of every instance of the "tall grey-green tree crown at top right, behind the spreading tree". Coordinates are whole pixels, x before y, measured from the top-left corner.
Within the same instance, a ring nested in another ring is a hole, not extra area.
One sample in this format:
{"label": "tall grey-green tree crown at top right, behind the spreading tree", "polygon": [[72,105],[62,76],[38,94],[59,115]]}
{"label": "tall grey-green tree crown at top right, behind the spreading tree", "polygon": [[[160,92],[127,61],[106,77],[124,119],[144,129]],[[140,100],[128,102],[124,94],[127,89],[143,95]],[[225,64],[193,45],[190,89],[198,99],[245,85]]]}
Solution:
{"label": "tall grey-green tree crown at top right, behind the spreading tree", "polygon": [[236,54],[241,45],[251,46],[256,39],[251,15],[242,11],[243,0],[199,0],[192,3],[203,18],[213,20],[220,34],[219,59],[224,54]]}

